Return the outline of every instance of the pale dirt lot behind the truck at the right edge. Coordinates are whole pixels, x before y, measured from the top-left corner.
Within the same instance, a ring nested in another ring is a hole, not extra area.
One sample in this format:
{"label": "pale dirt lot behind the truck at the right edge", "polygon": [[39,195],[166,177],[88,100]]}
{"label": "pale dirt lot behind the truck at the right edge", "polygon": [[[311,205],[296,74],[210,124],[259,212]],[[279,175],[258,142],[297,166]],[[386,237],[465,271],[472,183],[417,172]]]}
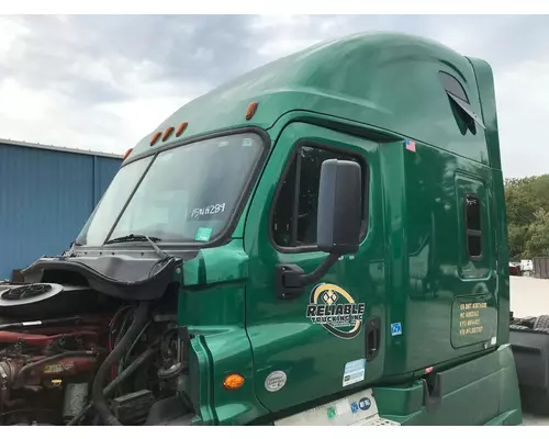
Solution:
{"label": "pale dirt lot behind the truck at the right edge", "polygon": [[[511,277],[511,311],[517,317],[549,314],[549,280]],[[549,426],[549,417],[524,414],[528,426]]]}

